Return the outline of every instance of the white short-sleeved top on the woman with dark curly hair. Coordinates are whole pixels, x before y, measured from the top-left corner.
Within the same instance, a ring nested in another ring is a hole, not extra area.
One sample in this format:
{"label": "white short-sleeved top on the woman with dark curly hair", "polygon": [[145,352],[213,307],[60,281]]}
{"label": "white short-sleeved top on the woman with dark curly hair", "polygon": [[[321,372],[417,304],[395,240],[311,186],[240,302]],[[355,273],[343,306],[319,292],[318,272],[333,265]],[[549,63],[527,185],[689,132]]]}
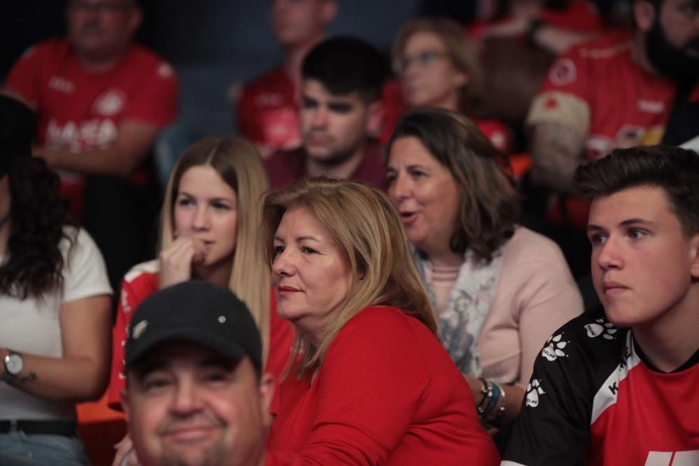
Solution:
{"label": "white short-sleeved top on the woman with dark curly hair", "polygon": [[[66,227],[71,235],[75,230]],[[64,258],[69,242],[63,240]],[[41,298],[19,300],[0,295],[0,347],[19,353],[60,358],[63,356],[59,314],[64,303],[111,294],[104,260],[92,238],[79,230],[65,259],[63,289]],[[0,257],[0,262],[3,260]],[[36,398],[8,384],[0,383],[0,420],[75,418],[75,405]]]}

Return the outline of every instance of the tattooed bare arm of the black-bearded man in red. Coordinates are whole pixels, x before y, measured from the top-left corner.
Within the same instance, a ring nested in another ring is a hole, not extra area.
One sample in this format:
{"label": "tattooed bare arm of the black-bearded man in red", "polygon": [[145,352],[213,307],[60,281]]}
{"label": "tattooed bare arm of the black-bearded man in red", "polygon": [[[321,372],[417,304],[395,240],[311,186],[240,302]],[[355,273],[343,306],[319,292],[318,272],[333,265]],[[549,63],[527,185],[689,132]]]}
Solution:
{"label": "tattooed bare arm of the black-bearded man in red", "polygon": [[579,165],[584,135],[575,128],[557,122],[534,126],[531,149],[531,180],[538,187],[569,192],[572,175]]}

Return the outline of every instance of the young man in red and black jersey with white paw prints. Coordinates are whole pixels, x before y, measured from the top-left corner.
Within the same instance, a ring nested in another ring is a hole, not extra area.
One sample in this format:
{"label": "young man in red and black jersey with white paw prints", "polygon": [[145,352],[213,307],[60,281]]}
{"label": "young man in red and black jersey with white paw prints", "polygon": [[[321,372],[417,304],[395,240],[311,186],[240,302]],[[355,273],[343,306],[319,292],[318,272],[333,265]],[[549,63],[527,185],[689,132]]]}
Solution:
{"label": "young man in red and black jersey with white paw prints", "polygon": [[614,150],[575,187],[604,312],[546,342],[502,465],[698,465],[699,155]]}

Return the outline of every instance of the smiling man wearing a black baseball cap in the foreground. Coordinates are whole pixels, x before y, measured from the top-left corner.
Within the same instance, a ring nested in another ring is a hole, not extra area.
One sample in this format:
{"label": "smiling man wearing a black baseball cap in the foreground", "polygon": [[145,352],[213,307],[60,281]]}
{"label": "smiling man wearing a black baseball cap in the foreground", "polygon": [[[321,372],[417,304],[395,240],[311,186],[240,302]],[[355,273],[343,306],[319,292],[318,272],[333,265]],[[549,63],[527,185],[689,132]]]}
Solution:
{"label": "smiling man wearing a black baseball cap in the foreground", "polygon": [[129,326],[122,405],[143,466],[264,465],[273,379],[250,312],[190,281],[147,298]]}

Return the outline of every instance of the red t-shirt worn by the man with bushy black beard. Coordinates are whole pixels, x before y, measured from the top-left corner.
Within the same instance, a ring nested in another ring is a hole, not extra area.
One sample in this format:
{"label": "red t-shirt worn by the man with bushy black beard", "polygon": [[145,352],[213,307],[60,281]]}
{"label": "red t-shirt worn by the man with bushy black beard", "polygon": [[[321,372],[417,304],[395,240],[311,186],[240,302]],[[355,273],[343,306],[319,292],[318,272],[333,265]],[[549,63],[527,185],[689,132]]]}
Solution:
{"label": "red t-shirt worn by the man with bushy black beard", "polygon": [[[628,33],[607,34],[563,54],[532,102],[528,126],[560,122],[586,135],[580,161],[599,159],[617,147],[660,143],[675,83],[637,64],[631,41]],[[570,223],[584,228],[589,203],[569,198],[566,207]],[[556,207],[552,214],[560,211]]]}

